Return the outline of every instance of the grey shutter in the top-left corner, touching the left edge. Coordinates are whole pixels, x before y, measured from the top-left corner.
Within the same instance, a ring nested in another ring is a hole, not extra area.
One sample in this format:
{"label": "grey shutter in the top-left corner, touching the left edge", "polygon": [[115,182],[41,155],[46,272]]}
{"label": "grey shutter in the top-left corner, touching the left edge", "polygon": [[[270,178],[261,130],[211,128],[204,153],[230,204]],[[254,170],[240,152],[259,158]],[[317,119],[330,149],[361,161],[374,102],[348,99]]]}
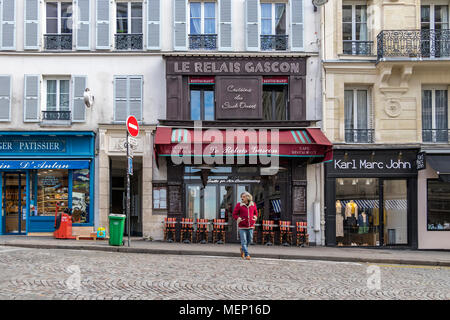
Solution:
{"label": "grey shutter in the top-left corner, touching the left edge", "polygon": [[1,49],[16,49],[16,9],[15,0],[1,0]]}

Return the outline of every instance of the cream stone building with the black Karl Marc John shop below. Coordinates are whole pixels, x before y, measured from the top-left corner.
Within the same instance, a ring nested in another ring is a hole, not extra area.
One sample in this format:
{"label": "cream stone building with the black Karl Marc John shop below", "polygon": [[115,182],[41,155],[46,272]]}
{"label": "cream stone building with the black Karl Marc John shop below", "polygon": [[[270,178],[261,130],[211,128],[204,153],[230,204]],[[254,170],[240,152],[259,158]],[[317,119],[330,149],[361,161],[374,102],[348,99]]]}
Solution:
{"label": "cream stone building with the black Karl Marc John shop below", "polygon": [[327,245],[448,249],[448,1],[321,8]]}

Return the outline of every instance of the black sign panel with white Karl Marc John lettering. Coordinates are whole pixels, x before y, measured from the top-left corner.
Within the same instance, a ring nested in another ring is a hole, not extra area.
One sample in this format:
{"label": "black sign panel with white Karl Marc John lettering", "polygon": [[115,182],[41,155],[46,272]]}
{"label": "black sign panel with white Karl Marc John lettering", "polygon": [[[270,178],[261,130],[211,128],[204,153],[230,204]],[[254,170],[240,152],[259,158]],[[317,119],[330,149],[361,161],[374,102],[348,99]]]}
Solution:
{"label": "black sign panel with white Karl Marc John lettering", "polygon": [[413,150],[335,150],[327,169],[331,174],[416,173],[416,155]]}

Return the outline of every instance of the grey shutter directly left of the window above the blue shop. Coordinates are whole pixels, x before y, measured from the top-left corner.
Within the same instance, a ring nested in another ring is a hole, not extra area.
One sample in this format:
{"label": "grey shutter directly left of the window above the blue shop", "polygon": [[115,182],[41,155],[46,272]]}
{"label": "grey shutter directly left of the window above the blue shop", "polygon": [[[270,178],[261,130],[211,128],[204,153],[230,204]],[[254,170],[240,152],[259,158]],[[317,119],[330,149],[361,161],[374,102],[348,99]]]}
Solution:
{"label": "grey shutter directly left of the window above the blue shop", "polygon": [[39,75],[25,75],[24,80],[24,122],[35,122],[39,121],[39,83],[41,77]]}

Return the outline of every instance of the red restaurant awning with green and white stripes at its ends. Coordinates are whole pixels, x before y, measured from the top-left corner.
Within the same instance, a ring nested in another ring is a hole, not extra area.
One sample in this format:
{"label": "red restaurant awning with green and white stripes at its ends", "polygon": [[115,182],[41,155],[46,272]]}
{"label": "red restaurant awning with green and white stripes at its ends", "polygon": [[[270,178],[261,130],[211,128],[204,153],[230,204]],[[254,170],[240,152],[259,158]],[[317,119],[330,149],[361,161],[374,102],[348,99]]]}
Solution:
{"label": "red restaurant awning with green and white stripes at its ends", "polygon": [[182,129],[158,127],[159,156],[279,156],[333,158],[332,144],[318,128],[298,129]]}

